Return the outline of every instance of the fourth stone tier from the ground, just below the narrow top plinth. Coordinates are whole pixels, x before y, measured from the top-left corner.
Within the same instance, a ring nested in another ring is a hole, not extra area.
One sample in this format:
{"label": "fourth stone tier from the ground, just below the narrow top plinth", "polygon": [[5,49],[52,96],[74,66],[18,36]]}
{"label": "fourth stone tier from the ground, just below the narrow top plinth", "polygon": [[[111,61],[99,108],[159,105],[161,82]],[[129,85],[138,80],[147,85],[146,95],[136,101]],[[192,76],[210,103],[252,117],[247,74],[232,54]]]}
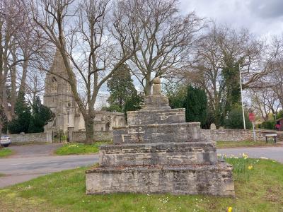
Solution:
{"label": "fourth stone tier from the ground, just below the narrow top plinth", "polygon": [[185,109],[138,110],[127,112],[128,125],[185,122]]}

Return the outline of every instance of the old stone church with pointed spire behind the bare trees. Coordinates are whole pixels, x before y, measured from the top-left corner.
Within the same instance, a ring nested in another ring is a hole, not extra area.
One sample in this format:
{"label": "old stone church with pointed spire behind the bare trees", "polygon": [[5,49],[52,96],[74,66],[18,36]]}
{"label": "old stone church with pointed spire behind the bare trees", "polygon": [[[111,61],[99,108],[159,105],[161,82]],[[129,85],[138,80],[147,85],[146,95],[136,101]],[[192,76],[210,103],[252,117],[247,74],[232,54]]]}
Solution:
{"label": "old stone church with pointed spire behind the bare trees", "polygon": [[[85,124],[79,107],[76,105],[71,86],[62,78],[68,78],[62,56],[59,51],[54,55],[50,73],[45,77],[45,95],[43,104],[55,114],[48,122],[45,131],[84,131]],[[125,115],[121,112],[96,111],[95,131],[110,131],[112,126],[125,126]]]}

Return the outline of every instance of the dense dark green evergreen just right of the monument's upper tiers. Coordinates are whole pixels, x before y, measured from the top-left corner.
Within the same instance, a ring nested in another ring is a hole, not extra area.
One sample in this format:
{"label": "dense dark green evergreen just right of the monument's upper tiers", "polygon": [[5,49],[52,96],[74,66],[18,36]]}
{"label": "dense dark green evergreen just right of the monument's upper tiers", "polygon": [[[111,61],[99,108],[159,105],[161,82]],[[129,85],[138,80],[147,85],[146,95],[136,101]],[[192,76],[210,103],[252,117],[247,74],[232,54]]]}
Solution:
{"label": "dense dark green evergreen just right of the monument's upper tiers", "polygon": [[207,95],[200,88],[187,88],[186,122],[207,123]]}

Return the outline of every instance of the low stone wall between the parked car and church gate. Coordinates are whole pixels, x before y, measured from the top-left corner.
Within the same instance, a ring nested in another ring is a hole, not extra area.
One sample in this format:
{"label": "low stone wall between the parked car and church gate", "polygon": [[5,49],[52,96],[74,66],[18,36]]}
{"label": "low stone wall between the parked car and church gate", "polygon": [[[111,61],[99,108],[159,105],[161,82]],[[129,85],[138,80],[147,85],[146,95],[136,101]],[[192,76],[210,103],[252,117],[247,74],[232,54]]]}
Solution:
{"label": "low stone wall between the parked car and church gate", "polygon": [[12,144],[52,143],[52,136],[47,133],[10,134],[8,136],[10,137]]}

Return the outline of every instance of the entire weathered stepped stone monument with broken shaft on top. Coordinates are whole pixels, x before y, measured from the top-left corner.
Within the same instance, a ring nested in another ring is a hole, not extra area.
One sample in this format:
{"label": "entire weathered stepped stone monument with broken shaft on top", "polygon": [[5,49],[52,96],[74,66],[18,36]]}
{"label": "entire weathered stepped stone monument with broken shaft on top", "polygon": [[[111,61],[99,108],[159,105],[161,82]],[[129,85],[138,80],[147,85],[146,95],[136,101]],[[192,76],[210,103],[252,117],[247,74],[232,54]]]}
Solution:
{"label": "entire weathered stepped stone monument with broken shaft on top", "polygon": [[113,130],[113,145],[100,146],[99,166],[86,171],[86,194],[235,195],[233,167],[201,139],[199,122],[186,123],[185,109],[169,107],[159,78],[144,108],[127,117],[128,126]]}

